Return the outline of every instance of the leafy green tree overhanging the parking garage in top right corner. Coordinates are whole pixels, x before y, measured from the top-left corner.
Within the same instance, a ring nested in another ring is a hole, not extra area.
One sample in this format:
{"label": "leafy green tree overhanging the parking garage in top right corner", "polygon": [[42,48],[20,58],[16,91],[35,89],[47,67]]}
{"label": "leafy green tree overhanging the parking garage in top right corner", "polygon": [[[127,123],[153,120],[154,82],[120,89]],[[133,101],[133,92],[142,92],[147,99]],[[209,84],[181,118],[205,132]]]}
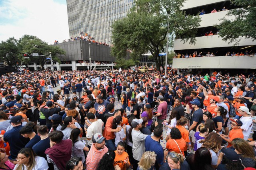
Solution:
{"label": "leafy green tree overhanging the parking garage in top right corner", "polygon": [[[238,44],[242,37],[256,39],[256,1],[255,0],[231,0],[231,4],[242,7],[229,10],[227,16],[217,26],[220,37],[228,43]],[[241,37],[242,36],[242,37]]]}

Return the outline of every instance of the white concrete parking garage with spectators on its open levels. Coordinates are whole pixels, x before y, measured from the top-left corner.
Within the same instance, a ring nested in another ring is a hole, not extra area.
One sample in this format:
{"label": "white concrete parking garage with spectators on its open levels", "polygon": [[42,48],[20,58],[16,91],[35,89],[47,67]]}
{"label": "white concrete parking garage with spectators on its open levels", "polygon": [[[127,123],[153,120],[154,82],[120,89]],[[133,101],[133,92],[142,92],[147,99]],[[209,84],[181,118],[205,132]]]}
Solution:
{"label": "white concrete parking garage with spectators on its open levels", "polygon": [[[196,43],[190,45],[189,42],[183,43],[179,37],[174,41],[174,51],[176,55],[202,55],[201,58],[177,58],[173,59],[173,68],[210,68],[211,70],[222,68],[256,68],[256,41],[242,38],[239,44],[228,43],[218,35],[215,27],[220,24],[220,19],[234,16],[226,16],[228,10],[240,8],[230,3],[230,0],[187,0],[182,10],[186,14],[200,15],[200,27],[197,29]],[[216,9],[216,11],[214,10]],[[230,52],[230,55],[226,54]],[[232,53],[238,56],[231,56]],[[212,57],[208,56],[208,53]],[[252,54],[250,56],[243,55]],[[214,58],[213,58],[214,57]]]}

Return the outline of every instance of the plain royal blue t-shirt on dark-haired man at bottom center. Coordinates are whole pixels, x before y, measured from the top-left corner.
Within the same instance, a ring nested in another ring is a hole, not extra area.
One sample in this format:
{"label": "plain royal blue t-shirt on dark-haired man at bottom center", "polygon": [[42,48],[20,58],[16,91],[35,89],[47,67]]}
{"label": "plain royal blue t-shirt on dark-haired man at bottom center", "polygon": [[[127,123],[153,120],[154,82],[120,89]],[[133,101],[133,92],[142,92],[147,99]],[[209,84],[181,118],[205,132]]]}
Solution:
{"label": "plain royal blue t-shirt on dark-haired man at bottom center", "polygon": [[158,169],[158,164],[164,164],[164,150],[158,141],[155,141],[151,136],[147,136],[145,140],[145,151],[154,151],[156,154],[156,169]]}

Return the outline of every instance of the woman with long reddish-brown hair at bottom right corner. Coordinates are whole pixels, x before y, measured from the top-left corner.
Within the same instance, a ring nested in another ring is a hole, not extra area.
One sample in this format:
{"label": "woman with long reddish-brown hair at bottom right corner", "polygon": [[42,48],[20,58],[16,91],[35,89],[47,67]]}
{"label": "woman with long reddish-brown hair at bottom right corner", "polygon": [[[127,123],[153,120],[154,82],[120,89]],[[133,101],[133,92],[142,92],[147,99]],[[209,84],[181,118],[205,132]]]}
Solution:
{"label": "woman with long reddish-brown hair at bottom right corner", "polygon": [[247,167],[254,168],[256,166],[256,158],[253,148],[244,139],[235,138],[232,140],[235,152],[240,156],[242,164]]}

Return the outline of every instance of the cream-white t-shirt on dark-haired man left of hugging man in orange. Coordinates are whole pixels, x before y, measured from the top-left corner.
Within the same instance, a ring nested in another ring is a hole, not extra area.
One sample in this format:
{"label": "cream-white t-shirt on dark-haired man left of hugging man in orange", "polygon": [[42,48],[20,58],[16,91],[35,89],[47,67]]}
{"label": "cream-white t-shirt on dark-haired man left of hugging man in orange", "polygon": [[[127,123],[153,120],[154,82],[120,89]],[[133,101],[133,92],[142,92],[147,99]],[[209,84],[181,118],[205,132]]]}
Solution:
{"label": "cream-white t-shirt on dark-haired man left of hugging man in orange", "polygon": [[[92,136],[95,133],[102,133],[102,126],[104,125],[103,121],[101,119],[98,119],[97,121],[92,122],[92,124],[87,128],[87,138],[92,138]],[[92,139],[88,141],[88,145],[92,146]]]}

